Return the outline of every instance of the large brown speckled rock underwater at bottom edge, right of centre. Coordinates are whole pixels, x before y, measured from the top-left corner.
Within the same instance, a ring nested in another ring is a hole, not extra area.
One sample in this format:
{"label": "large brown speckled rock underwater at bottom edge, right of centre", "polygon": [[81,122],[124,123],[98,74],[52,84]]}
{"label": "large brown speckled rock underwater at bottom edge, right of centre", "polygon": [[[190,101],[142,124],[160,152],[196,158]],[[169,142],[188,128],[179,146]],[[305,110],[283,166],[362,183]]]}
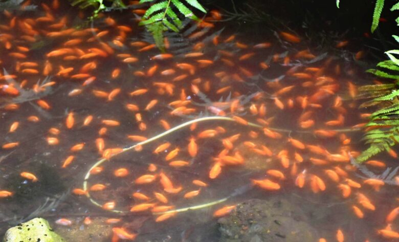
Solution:
{"label": "large brown speckled rock underwater at bottom edge, right of centre", "polygon": [[317,231],[301,209],[286,200],[249,200],[220,218],[219,242],[316,241]]}

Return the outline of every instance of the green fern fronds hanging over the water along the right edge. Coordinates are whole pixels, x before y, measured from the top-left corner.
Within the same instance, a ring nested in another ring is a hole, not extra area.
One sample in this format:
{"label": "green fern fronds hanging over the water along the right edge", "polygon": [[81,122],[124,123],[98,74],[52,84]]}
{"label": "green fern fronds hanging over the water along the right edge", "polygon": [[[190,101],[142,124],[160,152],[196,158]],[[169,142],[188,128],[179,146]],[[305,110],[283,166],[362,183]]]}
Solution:
{"label": "green fern fronds hanging over the water along the right edge", "polygon": [[[377,0],[373,14],[371,31],[378,27],[384,0]],[[399,10],[399,3],[393,5],[391,11]],[[396,21],[399,24],[399,18]],[[399,36],[392,35],[399,43]],[[372,98],[360,105],[360,108],[375,107],[368,123],[365,125],[363,140],[369,144],[357,158],[358,162],[365,162],[370,157],[382,151],[389,151],[392,146],[399,143],[399,59],[395,56],[399,50],[389,50],[385,54],[389,60],[377,64],[379,69],[370,69],[367,72],[381,78],[393,79],[393,83],[379,85],[365,85],[359,88],[359,98]]]}

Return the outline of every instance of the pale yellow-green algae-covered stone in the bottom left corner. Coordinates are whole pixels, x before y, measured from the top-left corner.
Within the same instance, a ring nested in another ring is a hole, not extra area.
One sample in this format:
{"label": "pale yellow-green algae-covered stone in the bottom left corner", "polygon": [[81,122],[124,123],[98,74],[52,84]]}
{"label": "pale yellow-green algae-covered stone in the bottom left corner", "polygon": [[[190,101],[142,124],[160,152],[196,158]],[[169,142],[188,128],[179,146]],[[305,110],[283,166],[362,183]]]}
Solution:
{"label": "pale yellow-green algae-covered stone in the bottom left corner", "polygon": [[33,218],[7,230],[4,242],[63,242],[44,218]]}

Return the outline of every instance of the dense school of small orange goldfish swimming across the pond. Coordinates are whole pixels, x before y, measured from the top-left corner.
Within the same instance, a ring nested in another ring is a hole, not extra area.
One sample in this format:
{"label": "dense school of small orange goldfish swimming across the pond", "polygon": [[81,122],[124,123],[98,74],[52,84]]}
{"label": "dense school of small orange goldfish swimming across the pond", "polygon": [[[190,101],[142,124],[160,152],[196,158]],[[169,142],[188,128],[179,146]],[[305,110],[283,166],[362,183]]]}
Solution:
{"label": "dense school of small orange goldfish swimming across the pond", "polygon": [[[30,0],[25,1],[21,9],[31,4]],[[0,95],[5,100],[1,108],[10,114],[7,117],[26,115],[23,119],[3,120],[8,128],[2,137],[2,149],[23,152],[27,143],[21,132],[41,123],[46,135],[36,142],[48,149],[62,150],[60,172],[76,167],[86,169],[87,163],[83,166],[84,163],[79,162],[80,154],[95,149],[98,158],[113,163],[90,170],[93,184],[87,190],[82,187],[72,190],[82,200],[89,192],[97,201],[104,198],[96,194],[111,189],[109,184],[93,180],[110,171],[114,179],[124,179],[125,184],[131,185],[131,203],[119,205],[111,194],[108,200],[102,201],[103,209],[133,214],[148,212],[154,214],[154,221],[163,222],[179,215],[173,212],[176,209],[173,201],[195,201],[218,179],[228,179],[231,169],[245,169],[250,156],[273,161],[262,176],[248,181],[259,192],[273,194],[292,184],[296,190],[341,196],[347,201],[352,216],[359,219],[381,213],[379,204],[373,203],[373,198],[365,193],[373,190],[378,196],[381,189],[396,189],[381,179],[361,179],[355,175],[357,167],[350,161],[359,151],[352,145],[351,135],[365,125],[369,114],[359,113],[357,109],[354,99],[357,87],[347,77],[353,70],[343,70],[333,58],[318,60],[308,49],[292,53],[275,47],[272,42],[249,44],[235,35],[203,38],[207,34],[205,30],[212,29],[221,19],[218,11],[210,11],[209,17],[197,24],[198,30],[188,36],[193,43],[191,52],[159,54],[152,43],[137,40],[137,23],[120,25],[117,18],[101,15],[96,27],[75,28],[73,17],[63,15],[60,5],[58,0],[41,3],[39,8],[43,11],[37,16],[7,10],[1,13]],[[130,5],[138,2],[131,1]],[[130,11],[142,15],[145,9]],[[83,15],[80,12],[78,17]],[[284,45],[301,47],[302,39],[295,34],[280,32],[278,37]],[[42,47],[43,50],[34,49],[40,42],[50,43]],[[342,41],[336,48],[347,45],[348,41]],[[165,46],[170,48],[167,38]],[[363,55],[361,51],[354,58],[360,59]],[[346,77],[341,78],[344,75]],[[47,76],[51,77],[49,81],[37,82]],[[57,88],[62,91],[53,97],[45,95]],[[27,92],[36,97],[28,100],[30,104],[18,99]],[[58,95],[64,95],[78,106],[70,108],[65,106],[68,104],[57,103]],[[89,98],[104,108],[111,105],[120,108],[117,112],[101,114],[75,112],[79,105],[85,106]],[[27,105],[37,107],[36,113],[27,113]],[[57,108],[67,110],[62,120],[44,124],[43,113],[51,114]],[[179,145],[173,143],[175,139],[165,136],[137,146],[137,152],[153,157],[146,161],[146,170],[142,173],[138,172],[140,169],[118,165],[118,153],[131,142],[146,141],[187,120],[207,115],[231,117],[235,123],[193,123],[185,128],[187,137],[180,139]],[[121,126],[123,129],[118,129]],[[74,130],[77,133],[73,133]],[[96,138],[82,137],[72,146],[65,146],[64,140],[76,136],[80,130],[90,130]],[[124,140],[118,138],[121,134]],[[207,173],[193,175],[191,181],[182,184],[178,172],[192,169],[202,146],[209,140],[217,141],[220,149],[213,157],[201,158],[206,159]],[[394,150],[390,150],[389,155],[397,157]],[[365,164],[376,171],[387,166],[380,160],[369,160]],[[40,174],[35,172],[21,170],[20,176],[40,183]],[[399,177],[394,179],[399,184]],[[0,197],[12,199],[13,191],[1,187]],[[399,205],[394,205],[397,201],[392,201],[385,224],[370,230],[375,237],[399,239],[399,228],[394,226],[399,213]],[[234,210],[234,204],[226,203],[214,208],[215,217]],[[121,221],[109,218],[106,223],[120,224]],[[59,218],[56,223],[69,226],[73,221]],[[91,218],[86,217],[83,223],[90,225]],[[334,233],[334,241],[349,241],[345,239],[345,228],[337,228]],[[113,234],[113,242],[140,236],[118,225],[113,228]],[[320,238],[319,242],[322,241],[327,240]],[[364,241],[372,240],[365,238]]]}

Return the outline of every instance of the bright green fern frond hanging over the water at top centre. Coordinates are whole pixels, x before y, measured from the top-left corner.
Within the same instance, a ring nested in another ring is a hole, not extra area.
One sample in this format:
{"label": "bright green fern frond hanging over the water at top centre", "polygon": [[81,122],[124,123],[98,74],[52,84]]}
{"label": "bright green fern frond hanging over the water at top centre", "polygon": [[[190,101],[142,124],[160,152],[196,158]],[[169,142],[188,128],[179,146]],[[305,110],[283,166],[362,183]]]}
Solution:
{"label": "bright green fern frond hanging over the water at top centre", "polygon": [[[206,13],[204,7],[197,0],[184,0],[184,2],[194,9]],[[190,18],[199,20],[197,16],[180,0],[141,0],[143,3],[153,3],[145,12],[140,25],[146,26],[152,34],[158,48],[164,51],[163,33],[167,30],[179,32],[182,27],[182,20]],[[178,11],[176,13],[176,10]],[[179,15],[183,16],[180,17]]]}

